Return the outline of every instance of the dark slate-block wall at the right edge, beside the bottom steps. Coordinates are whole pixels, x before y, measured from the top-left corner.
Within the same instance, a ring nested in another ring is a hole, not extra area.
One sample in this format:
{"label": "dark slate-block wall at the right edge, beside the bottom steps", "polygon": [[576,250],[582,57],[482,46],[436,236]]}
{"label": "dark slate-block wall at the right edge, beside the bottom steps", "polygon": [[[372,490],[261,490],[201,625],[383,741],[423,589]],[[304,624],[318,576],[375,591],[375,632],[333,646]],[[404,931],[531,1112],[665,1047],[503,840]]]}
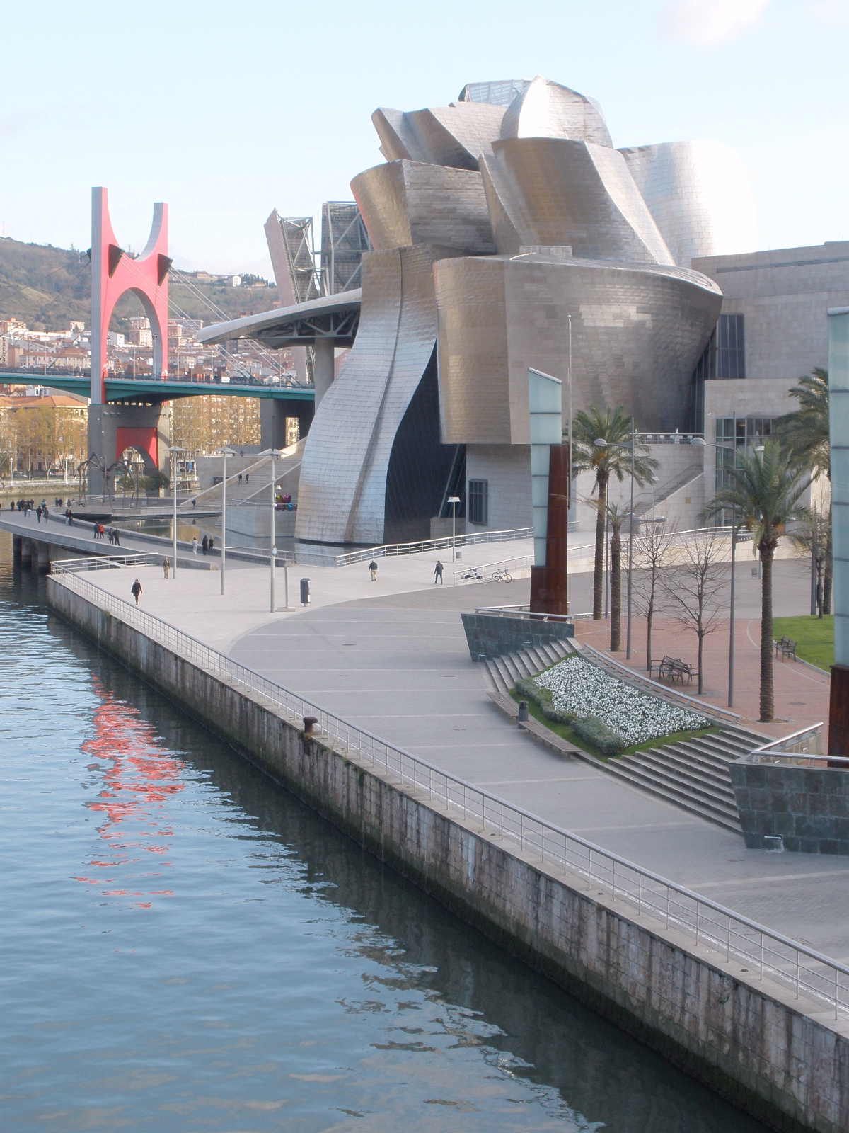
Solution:
{"label": "dark slate-block wall at the right edge, beside the bottom steps", "polygon": [[780,837],[784,850],[849,854],[849,769],[792,764],[729,765],[751,850]]}

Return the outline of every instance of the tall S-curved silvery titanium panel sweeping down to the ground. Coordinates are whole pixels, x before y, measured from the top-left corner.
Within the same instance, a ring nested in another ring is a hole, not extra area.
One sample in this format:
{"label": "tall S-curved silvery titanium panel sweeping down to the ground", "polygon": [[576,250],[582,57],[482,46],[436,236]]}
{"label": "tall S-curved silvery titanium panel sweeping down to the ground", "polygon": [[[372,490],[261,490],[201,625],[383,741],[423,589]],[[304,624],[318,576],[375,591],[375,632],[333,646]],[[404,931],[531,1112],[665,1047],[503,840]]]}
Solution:
{"label": "tall S-curved silvery titanium panel sweeping down to the ground", "polygon": [[367,253],[362,275],[357,340],[303,449],[298,539],[383,540],[392,444],[436,342],[427,247]]}

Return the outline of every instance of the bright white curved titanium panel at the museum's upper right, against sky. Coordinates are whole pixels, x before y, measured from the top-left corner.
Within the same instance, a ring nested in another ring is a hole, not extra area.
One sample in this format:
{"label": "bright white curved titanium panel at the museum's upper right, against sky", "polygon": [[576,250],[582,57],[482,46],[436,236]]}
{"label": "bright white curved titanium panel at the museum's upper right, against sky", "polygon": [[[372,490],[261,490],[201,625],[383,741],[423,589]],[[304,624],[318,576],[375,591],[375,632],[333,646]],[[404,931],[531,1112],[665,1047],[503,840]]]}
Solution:
{"label": "bright white curved titanium panel at the museum's upper right, against sky", "polygon": [[720,142],[620,150],[675,262],[757,247],[752,189],[738,155]]}

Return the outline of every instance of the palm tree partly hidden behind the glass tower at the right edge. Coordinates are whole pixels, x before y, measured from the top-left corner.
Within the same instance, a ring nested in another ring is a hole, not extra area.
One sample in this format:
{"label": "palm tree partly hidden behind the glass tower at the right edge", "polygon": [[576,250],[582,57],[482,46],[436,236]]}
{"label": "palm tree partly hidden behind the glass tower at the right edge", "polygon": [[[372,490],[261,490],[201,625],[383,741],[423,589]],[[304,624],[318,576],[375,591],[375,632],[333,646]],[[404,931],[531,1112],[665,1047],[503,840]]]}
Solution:
{"label": "palm tree partly hidden behind the glass tower at the right edge", "polygon": [[[789,449],[798,462],[809,468],[812,479],[827,476],[831,480],[831,445],[829,442],[829,372],[814,366],[809,374],[799,378],[790,390],[799,408],[779,417],[773,423],[773,435]],[[831,613],[831,511],[825,530],[817,533],[818,550],[823,554],[822,604],[820,615]]]}

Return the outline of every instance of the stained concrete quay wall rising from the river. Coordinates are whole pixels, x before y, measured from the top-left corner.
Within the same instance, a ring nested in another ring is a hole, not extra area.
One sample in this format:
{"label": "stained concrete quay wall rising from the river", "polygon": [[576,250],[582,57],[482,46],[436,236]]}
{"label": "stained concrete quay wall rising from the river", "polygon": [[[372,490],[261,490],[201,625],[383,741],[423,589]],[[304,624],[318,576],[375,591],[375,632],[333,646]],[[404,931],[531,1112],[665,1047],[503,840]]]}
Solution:
{"label": "stained concrete quay wall rising from the river", "polygon": [[849,1128],[849,1025],[402,790],[357,752],[87,602],[51,607],[458,917],[781,1131]]}

